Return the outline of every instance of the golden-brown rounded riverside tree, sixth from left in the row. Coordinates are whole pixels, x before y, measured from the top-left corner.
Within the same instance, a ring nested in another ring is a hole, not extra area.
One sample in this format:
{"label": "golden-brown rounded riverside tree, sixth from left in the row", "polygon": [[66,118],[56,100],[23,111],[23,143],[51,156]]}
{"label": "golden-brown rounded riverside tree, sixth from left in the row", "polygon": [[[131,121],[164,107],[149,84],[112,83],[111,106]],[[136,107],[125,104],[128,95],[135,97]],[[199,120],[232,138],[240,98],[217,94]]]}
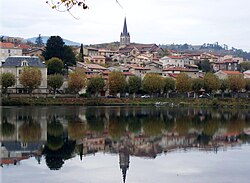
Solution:
{"label": "golden-brown rounded riverside tree, sixth from left in the row", "polygon": [[117,93],[123,92],[126,83],[125,76],[121,72],[112,71],[108,78],[109,93],[116,95]]}

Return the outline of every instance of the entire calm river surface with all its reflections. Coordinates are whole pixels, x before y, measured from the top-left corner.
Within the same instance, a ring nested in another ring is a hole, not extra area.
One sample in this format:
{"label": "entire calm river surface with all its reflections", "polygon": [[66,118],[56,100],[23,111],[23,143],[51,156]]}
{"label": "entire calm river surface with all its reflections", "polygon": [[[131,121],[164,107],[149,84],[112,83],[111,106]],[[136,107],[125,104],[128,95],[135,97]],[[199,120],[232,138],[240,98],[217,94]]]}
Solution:
{"label": "entire calm river surface with all its reflections", "polygon": [[247,109],[2,107],[1,179],[249,182]]}

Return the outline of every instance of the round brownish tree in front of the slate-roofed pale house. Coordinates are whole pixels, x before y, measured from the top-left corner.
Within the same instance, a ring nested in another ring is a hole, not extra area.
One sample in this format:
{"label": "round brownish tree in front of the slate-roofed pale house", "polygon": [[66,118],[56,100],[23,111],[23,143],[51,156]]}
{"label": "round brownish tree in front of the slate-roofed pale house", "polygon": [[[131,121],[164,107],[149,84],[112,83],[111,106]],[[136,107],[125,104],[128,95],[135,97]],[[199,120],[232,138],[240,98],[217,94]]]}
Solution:
{"label": "round brownish tree in front of the slate-roofed pale house", "polygon": [[42,73],[35,67],[24,67],[20,75],[20,83],[28,89],[29,94],[42,82]]}

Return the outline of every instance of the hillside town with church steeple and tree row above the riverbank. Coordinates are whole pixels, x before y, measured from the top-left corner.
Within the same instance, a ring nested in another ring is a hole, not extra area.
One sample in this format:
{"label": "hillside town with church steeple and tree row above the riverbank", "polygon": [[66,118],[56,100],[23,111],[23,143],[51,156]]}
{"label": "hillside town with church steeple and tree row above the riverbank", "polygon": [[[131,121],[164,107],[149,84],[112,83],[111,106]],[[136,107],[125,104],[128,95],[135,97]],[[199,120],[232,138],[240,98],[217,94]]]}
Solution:
{"label": "hillside town with church steeple and tree row above the riverbank", "polygon": [[[205,44],[201,50],[209,46],[213,47]],[[208,97],[209,94],[216,92],[249,91],[250,61],[246,57],[211,50],[190,51],[188,45],[183,45],[181,51],[169,48],[157,44],[131,43],[126,18],[119,43],[68,46],[60,36],[51,36],[46,44],[43,43],[41,35],[37,37],[35,43],[24,42],[23,38],[2,36],[0,42],[2,92],[8,95],[90,93],[106,97],[130,96],[134,93],[139,94],[136,96],[147,98],[163,96],[169,91],[180,93],[193,91],[201,97]],[[39,74],[35,74],[35,71],[32,73],[27,66],[36,68]],[[73,73],[79,72],[84,74],[84,79],[89,82],[77,80],[77,74]],[[8,78],[6,73],[11,74],[14,79],[4,85],[3,78]],[[24,77],[27,73],[30,76]],[[117,73],[122,75],[121,80]],[[212,73],[212,77],[215,77],[218,83],[216,86],[206,83],[205,78],[208,73]],[[63,76],[59,77],[59,80],[62,80],[59,85],[53,85],[52,75],[55,74]],[[183,82],[178,81],[178,78],[186,80],[185,77],[190,82],[182,84]],[[39,82],[29,85],[27,78],[30,80],[38,78]],[[115,83],[111,82],[112,78],[117,80],[116,84],[112,85]],[[166,78],[175,82],[173,87],[158,82],[153,82],[158,86],[153,84],[152,87],[148,87],[150,79],[163,81]],[[94,79],[101,80],[98,87]],[[132,80],[137,81],[135,83],[142,83],[131,86]],[[128,84],[124,85],[125,82]],[[187,83],[190,83],[188,87],[183,86]],[[123,86],[120,86],[122,84]]]}

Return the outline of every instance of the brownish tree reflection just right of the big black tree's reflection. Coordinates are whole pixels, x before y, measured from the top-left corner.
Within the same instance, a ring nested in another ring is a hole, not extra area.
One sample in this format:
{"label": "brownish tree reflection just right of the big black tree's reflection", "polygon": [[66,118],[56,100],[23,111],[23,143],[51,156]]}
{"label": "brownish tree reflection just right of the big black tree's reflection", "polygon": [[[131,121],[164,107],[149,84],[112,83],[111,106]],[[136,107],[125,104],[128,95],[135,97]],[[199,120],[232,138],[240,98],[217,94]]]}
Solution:
{"label": "brownish tree reflection just right of the big black tree's reflection", "polygon": [[68,132],[71,139],[80,139],[85,136],[86,124],[80,119],[71,119],[68,123]]}

